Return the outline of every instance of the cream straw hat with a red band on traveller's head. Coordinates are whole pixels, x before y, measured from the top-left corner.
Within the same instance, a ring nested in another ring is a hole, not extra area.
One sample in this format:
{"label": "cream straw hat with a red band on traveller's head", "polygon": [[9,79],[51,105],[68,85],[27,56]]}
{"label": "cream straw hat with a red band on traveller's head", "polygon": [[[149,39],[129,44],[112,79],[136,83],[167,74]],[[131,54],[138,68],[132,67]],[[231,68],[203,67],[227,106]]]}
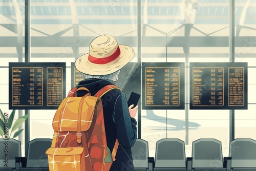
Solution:
{"label": "cream straw hat with a red band on traveller's head", "polygon": [[76,59],[78,71],[89,75],[106,75],[120,70],[134,57],[134,50],[118,45],[111,35],[100,35],[90,44],[89,53]]}

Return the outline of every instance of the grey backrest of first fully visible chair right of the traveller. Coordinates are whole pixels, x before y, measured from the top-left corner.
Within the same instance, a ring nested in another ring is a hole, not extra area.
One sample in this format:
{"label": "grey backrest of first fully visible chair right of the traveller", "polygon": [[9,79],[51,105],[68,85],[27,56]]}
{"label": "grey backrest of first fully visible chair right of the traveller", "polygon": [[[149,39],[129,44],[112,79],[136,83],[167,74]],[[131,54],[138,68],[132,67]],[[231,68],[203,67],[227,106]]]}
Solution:
{"label": "grey backrest of first fully visible chair right of the traveller", "polygon": [[180,139],[157,141],[155,167],[186,167],[184,141]]}

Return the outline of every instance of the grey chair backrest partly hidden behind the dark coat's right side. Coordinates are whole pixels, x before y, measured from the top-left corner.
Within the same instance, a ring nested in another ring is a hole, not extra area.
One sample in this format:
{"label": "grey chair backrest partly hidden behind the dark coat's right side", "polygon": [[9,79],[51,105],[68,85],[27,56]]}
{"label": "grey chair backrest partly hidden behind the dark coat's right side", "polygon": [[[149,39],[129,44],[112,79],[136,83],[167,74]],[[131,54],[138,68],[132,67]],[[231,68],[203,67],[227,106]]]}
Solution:
{"label": "grey chair backrest partly hidden behind the dark coat's right side", "polygon": [[133,164],[135,168],[147,168],[148,143],[145,140],[137,139],[132,146]]}

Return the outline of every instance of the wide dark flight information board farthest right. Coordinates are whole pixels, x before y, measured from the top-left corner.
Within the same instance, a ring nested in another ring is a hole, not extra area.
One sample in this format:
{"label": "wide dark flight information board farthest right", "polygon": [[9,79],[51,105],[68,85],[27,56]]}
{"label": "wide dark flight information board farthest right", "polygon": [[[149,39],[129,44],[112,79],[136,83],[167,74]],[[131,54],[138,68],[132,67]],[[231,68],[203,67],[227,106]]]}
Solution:
{"label": "wide dark flight information board farthest right", "polygon": [[247,109],[247,62],[190,63],[190,109]]}

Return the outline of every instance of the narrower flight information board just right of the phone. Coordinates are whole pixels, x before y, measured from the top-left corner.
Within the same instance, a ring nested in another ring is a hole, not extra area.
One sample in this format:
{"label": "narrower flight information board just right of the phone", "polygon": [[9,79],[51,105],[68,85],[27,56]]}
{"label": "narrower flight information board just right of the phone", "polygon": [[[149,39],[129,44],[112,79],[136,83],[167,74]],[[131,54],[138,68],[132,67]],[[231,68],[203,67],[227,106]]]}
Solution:
{"label": "narrower flight information board just right of the phone", "polygon": [[184,62],[142,63],[142,109],[184,109]]}

